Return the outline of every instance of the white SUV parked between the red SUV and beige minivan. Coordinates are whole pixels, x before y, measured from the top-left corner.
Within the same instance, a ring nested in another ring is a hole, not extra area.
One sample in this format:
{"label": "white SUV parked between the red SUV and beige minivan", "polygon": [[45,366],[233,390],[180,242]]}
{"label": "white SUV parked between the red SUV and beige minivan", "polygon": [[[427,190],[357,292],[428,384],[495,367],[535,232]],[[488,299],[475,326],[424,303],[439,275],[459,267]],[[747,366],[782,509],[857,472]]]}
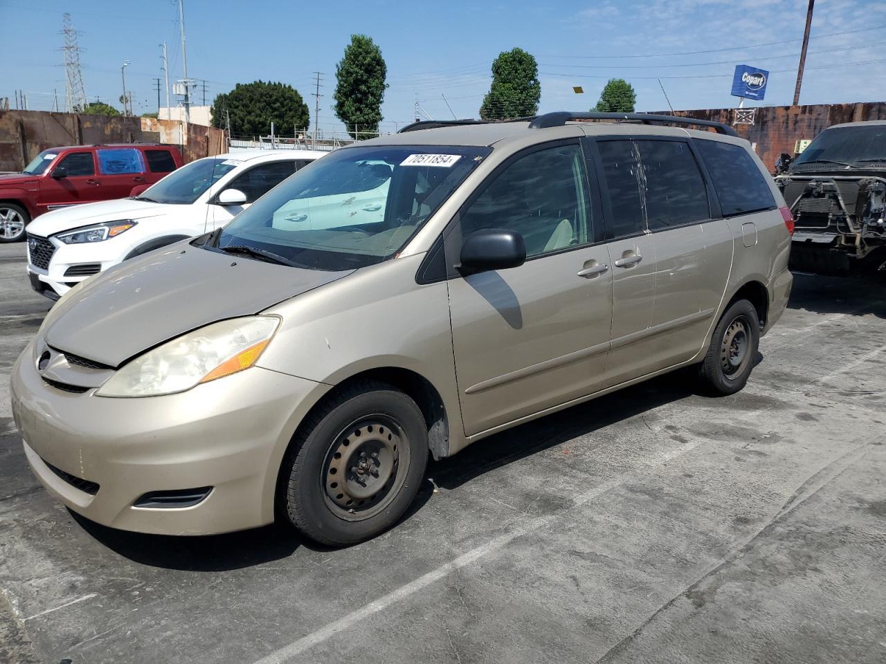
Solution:
{"label": "white SUV parked between the red SUV and beige minivan", "polygon": [[233,219],[321,151],[239,151],[192,161],[136,197],[75,205],[27,227],[27,274],[58,299],[92,274]]}

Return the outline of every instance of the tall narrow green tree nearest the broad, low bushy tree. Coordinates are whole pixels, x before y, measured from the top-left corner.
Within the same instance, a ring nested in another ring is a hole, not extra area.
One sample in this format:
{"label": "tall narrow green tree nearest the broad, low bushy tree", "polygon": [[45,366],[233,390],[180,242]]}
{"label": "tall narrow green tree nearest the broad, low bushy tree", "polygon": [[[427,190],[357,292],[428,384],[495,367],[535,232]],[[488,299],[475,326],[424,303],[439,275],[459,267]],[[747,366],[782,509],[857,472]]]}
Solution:
{"label": "tall narrow green tree nearest the broad, low bushy tree", "polygon": [[345,56],[336,65],[335,76],[335,114],[345,123],[347,133],[356,138],[354,127],[361,134],[377,132],[388,87],[381,49],[366,35],[351,35]]}

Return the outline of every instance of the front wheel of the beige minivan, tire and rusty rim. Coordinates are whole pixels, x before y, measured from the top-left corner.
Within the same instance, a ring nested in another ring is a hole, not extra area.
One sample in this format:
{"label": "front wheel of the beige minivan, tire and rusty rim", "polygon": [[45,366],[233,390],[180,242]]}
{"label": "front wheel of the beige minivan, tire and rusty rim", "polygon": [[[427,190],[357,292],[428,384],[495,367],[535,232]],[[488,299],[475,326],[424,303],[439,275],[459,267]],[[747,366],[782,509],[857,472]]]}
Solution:
{"label": "front wheel of the beige minivan, tire and rusty rim", "polygon": [[284,462],[285,513],[301,533],[356,544],[394,525],[416,497],[428,430],[416,402],[384,382],[359,382],[299,429]]}

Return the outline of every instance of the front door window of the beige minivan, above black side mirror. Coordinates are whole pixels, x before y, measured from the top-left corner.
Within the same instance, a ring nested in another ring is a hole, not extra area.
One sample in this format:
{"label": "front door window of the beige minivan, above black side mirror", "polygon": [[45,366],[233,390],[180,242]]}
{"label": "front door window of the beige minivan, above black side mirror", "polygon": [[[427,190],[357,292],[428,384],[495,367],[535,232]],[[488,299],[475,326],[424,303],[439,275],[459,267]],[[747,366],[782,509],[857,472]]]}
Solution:
{"label": "front door window of the beige minivan, above black side mirror", "polygon": [[523,235],[526,257],[588,243],[590,208],[578,145],[531,152],[495,176],[462,214],[462,236],[484,228]]}

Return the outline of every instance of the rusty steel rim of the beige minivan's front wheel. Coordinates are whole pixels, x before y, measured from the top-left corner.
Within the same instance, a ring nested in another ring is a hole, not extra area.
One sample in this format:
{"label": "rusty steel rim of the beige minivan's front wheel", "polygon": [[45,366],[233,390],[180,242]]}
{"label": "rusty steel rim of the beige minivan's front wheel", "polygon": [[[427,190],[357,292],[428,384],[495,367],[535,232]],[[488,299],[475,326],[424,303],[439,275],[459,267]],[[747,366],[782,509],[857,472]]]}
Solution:
{"label": "rusty steel rim of the beige minivan's front wheel", "polygon": [[390,506],[409,467],[400,423],[380,413],[355,420],[332,441],[321,470],[323,498],[345,521],[364,521]]}

